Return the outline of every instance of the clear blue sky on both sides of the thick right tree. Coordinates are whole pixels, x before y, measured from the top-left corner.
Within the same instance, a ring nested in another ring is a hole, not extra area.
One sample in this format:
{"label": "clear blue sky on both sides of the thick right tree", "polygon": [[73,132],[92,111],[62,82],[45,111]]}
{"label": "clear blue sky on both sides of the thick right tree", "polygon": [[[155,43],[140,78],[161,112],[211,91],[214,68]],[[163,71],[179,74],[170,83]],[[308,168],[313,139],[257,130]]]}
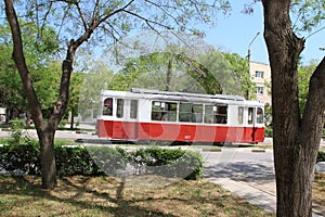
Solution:
{"label": "clear blue sky on both sides of the thick right tree", "polygon": [[[257,36],[250,46],[250,60],[269,63],[268,49],[263,39],[262,5],[261,3],[257,3],[253,14],[244,14],[242,13],[244,2],[231,0],[233,8],[231,15],[219,15],[217,26],[207,30],[206,41],[217,48],[222,48],[226,52],[238,53],[245,58],[248,53],[248,44],[252,41],[257,33],[260,31],[260,35]],[[304,37],[308,35],[306,34]],[[321,61],[325,55],[325,51],[321,51],[320,48],[324,47],[325,29],[307,39],[306,48],[302,52],[303,63],[307,64],[312,59]]]}

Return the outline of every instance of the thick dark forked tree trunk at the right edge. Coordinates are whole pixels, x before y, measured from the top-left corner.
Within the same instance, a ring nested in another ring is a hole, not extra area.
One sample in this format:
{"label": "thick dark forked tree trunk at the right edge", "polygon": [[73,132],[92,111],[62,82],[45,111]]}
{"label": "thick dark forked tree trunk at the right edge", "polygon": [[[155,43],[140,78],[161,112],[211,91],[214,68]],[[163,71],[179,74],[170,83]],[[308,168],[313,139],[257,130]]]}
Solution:
{"label": "thick dark forked tree trunk at the right edge", "polygon": [[[289,13],[294,3],[302,3],[302,14],[310,10],[311,13],[318,12],[316,20],[324,18],[324,2],[313,4],[311,1],[262,0],[264,39],[272,72],[276,214],[312,216],[312,182],[324,126],[325,58],[310,78],[301,114],[297,67],[306,39],[297,36],[291,24]],[[309,7],[314,8],[311,10]]]}

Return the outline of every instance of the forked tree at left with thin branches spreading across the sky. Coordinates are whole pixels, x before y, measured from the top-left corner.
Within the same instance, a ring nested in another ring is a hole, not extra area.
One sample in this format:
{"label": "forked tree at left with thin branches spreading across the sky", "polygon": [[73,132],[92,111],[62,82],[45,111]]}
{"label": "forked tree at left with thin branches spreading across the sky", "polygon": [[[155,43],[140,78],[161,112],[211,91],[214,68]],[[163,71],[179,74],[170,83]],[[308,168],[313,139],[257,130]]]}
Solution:
{"label": "forked tree at left with thin branches spreading across the sky", "polygon": [[[31,116],[37,129],[41,150],[42,187],[51,189],[56,186],[56,168],[54,156],[54,133],[60,120],[67,108],[69,99],[69,84],[76,52],[80,46],[87,43],[91,36],[98,44],[104,40],[118,40],[131,29],[147,27],[155,33],[159,29],[192,30],[188,29],[197,22],[210,23],[213,14],[226,11],[229,2],[220,1],[208,4],[203,0],[193,1],[76,1],[76,0],[44,0],[18,2],[4,0],[5,14],[13,37],[13,59],[23,80]],[[18,10],[16,10],[18,9]],[[22,11],[20,11],[22,9]],[[26,11],[27,9],[27,11]],[[24,44],[17,12],[24,17],[39,25],[37,37],[42,36],[44,26],[56,27],[56,39],[66,42],[66,54],[62,62],[60,92],[54,102],[48,122],[44,122],[39,99],[35,92],[31,68],[26,64]],[[60,20],[61,18],[61,20]],[[47,23],[52,22],[52,23]],[[44,25],[47,24],[47,25]],[[51,25],[50,25],[51,24]],[[140,25],[140,26],[139,26]]]}

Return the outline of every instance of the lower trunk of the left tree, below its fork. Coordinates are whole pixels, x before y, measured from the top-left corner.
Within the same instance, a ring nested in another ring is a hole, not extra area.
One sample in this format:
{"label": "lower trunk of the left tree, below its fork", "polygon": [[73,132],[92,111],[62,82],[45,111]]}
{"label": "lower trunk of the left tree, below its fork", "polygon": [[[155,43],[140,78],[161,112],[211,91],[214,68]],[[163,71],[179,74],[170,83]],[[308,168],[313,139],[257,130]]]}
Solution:
{"label": "lower trunk of the left tree, below its fork", "polygon": [[38,131],[38,138],[41,149],[40,161],[43,189],[54,189],[56,187],[54,133],[55,130],[49,129]]}

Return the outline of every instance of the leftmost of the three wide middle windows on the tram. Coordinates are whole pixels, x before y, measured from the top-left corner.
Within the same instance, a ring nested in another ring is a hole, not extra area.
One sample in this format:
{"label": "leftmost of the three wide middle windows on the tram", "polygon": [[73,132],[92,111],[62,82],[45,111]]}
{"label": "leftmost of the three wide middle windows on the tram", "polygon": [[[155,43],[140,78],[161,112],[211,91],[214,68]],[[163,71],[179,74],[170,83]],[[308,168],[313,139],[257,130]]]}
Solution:
{"label": "leftmost of the three wide middle windows on the tram", "polygon": [[176,122],[178,104],[174,102],[153,101],[152,120]]}

